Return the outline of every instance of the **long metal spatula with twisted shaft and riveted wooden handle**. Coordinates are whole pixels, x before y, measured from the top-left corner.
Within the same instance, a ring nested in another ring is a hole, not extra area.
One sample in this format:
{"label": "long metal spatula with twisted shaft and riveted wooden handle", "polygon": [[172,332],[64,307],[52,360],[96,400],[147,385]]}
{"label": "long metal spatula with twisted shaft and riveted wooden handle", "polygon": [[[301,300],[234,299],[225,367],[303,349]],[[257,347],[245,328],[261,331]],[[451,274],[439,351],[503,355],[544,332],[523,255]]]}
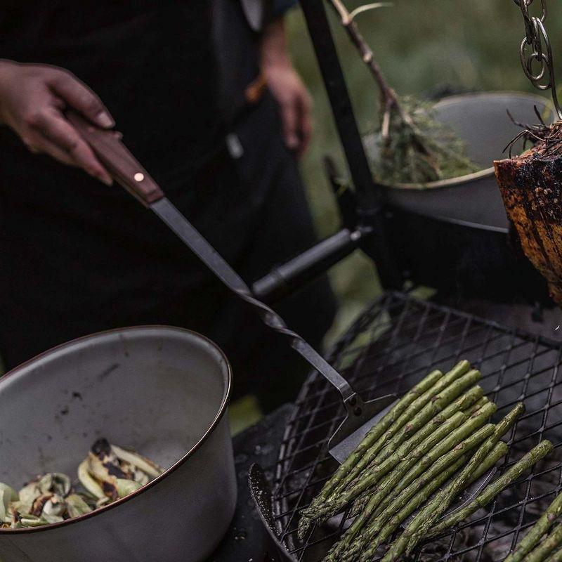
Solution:
{"label": "long metal spatula with twisted shaft and riveted wooden handle", "polygon": [[254,298],[240,275],[166,198],[157,183],[127,150],[118,133],[99,129],[72,111],[67,112],[67,117],[84,140],[89,143],[113,178],[145,207],[152,209],[226,287],[253,306],[266,325],[275,332],[286,336],[292,348],[339,391],[347,415],[330,438],[328,448],[337,461],[344,462],[377,421],[377,417],[379,417],[377,414],[381,415],[381,412],[396,400],[396,396],[387,395],[364,402],[339,372],[329,365],[299,334],[287,327],[280,315],[265,303]]}

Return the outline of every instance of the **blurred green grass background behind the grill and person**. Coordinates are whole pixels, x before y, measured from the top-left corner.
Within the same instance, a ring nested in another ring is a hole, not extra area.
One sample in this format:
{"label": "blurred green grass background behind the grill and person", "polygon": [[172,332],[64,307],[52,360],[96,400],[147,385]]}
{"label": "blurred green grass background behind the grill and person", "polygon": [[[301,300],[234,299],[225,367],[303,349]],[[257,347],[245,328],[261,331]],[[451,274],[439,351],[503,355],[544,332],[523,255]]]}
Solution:
{"label": "blurred green grass background behind the grill and person", "polygon": [[[360,4],[365,2],[346,1],[350,10]],[[539,4],[536,0],[533,7],[538,9]],[[546,27],[562,84],[562,3],[550,0],[549,8]],[[370,131],[377,117],[374,82],[331,10],[330,20],[360,129]],[[395,0],[392,7],[363,13],[357,21],[389,83],[402,95],[424,96],[443,86],[467,91],[535,91],[519,62],[524,26],[513,0]],[[287,16],[287,30],[294,63],[315,104],[315,133],[302,171],[318,233],[326,236],[336,230],[339,217],[322,171],[322,156],[336,157],[341,169],[344,159],[299,9]],[[333,268],[330,275],[341,299],[333,336],[380,289],[371,264],[358,253]]]}

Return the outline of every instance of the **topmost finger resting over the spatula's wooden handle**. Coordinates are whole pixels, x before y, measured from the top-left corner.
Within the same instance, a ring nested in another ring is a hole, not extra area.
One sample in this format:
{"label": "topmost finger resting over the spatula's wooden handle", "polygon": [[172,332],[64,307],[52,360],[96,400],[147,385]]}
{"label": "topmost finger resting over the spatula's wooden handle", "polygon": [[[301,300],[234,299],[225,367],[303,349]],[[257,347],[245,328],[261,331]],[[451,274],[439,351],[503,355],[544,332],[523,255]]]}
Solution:
{"label": "topmost finger resting over the spatula's wooden handle", "polygon": [[49,81],[49,86],[53,93],[63,98],[68,105],[81,112],[92,123],[103,129],[110,129],[115,125],[115,121],[100,98],[69,72],[58,72],[56,77]]}

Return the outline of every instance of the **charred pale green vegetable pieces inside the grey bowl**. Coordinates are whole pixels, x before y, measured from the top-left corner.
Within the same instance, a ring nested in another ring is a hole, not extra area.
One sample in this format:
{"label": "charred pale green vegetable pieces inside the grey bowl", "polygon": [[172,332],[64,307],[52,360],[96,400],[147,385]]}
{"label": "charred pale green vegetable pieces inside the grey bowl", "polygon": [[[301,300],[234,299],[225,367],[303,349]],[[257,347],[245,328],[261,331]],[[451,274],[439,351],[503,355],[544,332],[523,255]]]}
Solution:
{"label": "charred pale green vegetable pieces inside the grey bowl", "polygon": [[137,452],[98,439],[78,466],[75,486],[58,472],[37,476],[20,492],[0,483],[0,527],[39,527],[79,517],[131,494],[162,472]]}

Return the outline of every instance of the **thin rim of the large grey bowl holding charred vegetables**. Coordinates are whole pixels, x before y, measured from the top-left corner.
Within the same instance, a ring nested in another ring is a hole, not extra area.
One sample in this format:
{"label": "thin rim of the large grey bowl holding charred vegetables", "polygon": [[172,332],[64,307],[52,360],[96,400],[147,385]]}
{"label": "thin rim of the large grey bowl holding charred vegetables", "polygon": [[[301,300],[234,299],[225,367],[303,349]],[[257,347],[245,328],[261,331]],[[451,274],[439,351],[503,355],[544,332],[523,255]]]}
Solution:
{"label": "thin rim of the large grey bowl holding charred vegetables", "polygon": [[97,515],[103,514],[107,511],[109,511],[110,509],[113,509],[115,507],[119,507],[119,505],[124,504],[124,502],[128,502],[130,499],[133,499],[133,497],[137,497],[137,496],[143,494],[143,492],[145,492],[145,490],[148,490],[149,488],[152,488],[153,486],[157,485],[160,481],[164,480],[164,478],[169,476],[169,474],[176,471],[176,469],[178,469],[180,466],[182,466],[186,461],[188,461],[188,459],[190,459],[190,457],[192,457],[192,455],[195,454],[195,452],[197,452],[197,450],[205,443],[205,441],[207,441],[207,439],[209,438],[211,433],[213,433],[214,429],[216,429],[216,426],[218,426],[218,424],[223,419],[223,416],[224,416],[224,414],[226,412],[226,409],[228,407],[228,402],[230,401],[230,394],[232,392],[232,382],[233,382],[232,366],[230,365],[230,362],[228,361],[228,358],[226,357],[223,350],[217,344],[215,344],[214,341],[211,341],[211,339],[207,338],[206,336],[203,336],[199,332],[195,332],[194,330],[187,329],[187,328],[181,328],[181,327],[176,327],[176,326],[166,326],[166,325],[159,325],[159,324],[149,324],[149,325],[130,326],[130,327],[124,327],[124,328],[113,328],[113,329],[103,330],[103,332],[96,332],[94,334],[89,334],[87,336],[81,336],[79,338],[67,341],[64,344],[60,344],[60,345],[55,346],[51,349],[48,349],[47,351],[44,351],[43,353],[39,353],[39,355],[36,355],[34,358],[32,358],[30,360],[27,360],[27,361],[23,362],[21,365],[18,365],[18,367],[14,367],[11,371],[8,371],[6,374],[4,374],[3,377],[0,377],[0,380],[6,379],[6,377],[11,377],[14,374],[18,374],[18,372],[20,372],[20,370],[22,370],[24,367],[27,367],[27,365],[30,365],[30,363],[35,362],[38,359],[44,358],[46,355],[50,355],[53,351],[59,351],[60,349],[63,349],[65,347],[70,347],[70,346],[76,344],[79,341],[93,339],[93,338],[96,338],[98,336],[104,336],[104,335],[107,335],[107,334],[116,334],[116,333],[124,333],[124,332],[136,332],[137,330],[153,329],[153,328],[165,329],[165,330],[174,331],[174,332],[183,332],[183,333],[186,333],[186,334],[191,334],[191,335],[197,336],[198,338],[202,339],[204,342],[209,344],[211,346],[211,348],[214,348],[218,352],[218,354],[221,355],[221,357],[223,358],[224,363],[226,365],[226,380],[225,380],[226,385],[225,385],[225,390],[223,392],[223,400],[221,402],[220,407],[218,408],[218,412],[217,412],[214,420],[211,421],[211,424],[209,425],[209,428],[207,429],[207,431],[205,431],[203,433],[203,435],[200,437],[200,439],[197,440],[197,443],[195,443],[195,445],[193,445],[190,448],[190,450],[188,450],[188,452],[186,452],[185,455],[183,455],[183,457],[180,457],[174,464],[172,464],[162,474],[157,476],[157,478],[154,478],[154,480],[150,481],[148,484],[145,484],[141,488],[138,488],[138,490],[135,490],[134,492],[131,492],[131,494],[117,499],[112,504],[108,504],[108,505],[105,505],[105,506],[102,506],[102,507],[98,507],[97,509],[94,509],[93,511],[90,511],[90,513],[88,513],[88,514],[84,514],[84,515],[81,515],[81,516],[78,516],[78,517],[74,517],[72,519],[67,519],[65,521],[59,521],[58,523],[48,523],[48,525],[41,525],[40,527],[27,527],[27,528],[22,528],[22,529],[2,529],[2,528],[0,528],[0,535],[8,535],[8,534],[14,534],[14,533],[25,534],[25,533],[30,533],[30,532],[44,532],[44,531],[48,531],[48,530],[51,530],[51,529],[54,529],[54,528],[63,527],[63,526],[66,526],[66,525],[72,525],[73,523],[80,523],[81,521],[85,521],[86,519],[89,519],[89,518],[95,517]]}

